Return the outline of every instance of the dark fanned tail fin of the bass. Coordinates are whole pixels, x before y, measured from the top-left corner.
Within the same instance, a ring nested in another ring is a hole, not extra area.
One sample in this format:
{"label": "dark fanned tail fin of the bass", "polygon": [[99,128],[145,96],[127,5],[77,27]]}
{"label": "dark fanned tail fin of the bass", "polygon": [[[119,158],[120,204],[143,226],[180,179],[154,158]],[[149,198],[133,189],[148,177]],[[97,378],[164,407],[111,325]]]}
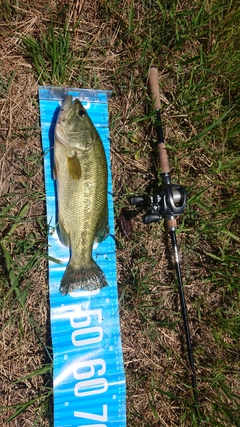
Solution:
{"label": "dark fanned tail fin of the bass", "polygon": [[103,271],[93,260],[90,265],[80,268],[73,267],[69,262],[61,281],[60,292],[66,295],[75,290],[95,291],[107,285]]}

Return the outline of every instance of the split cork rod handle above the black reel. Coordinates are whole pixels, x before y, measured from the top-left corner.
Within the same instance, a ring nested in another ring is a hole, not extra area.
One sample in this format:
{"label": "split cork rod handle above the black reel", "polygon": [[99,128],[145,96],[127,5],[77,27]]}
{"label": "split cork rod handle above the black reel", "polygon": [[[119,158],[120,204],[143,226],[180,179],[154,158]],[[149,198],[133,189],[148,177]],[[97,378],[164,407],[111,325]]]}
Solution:
{"label": "split cork rod handle above the black reel", "polygon": [[[160,93],[159,93],[159,83],[158,83],[158,69],[156,67],[150,68],[148,86],[152,96],[153,108],[158,112],[160,110],[161,103],[160,103]],[[160,118],[160,115],[159,115],[159,118]],[[161,134],[162,134],[161,123],[157,124],[157,126],[159,126],[159,130],[161,127]],[[158,135],[160,134],[160,132],[158,132],[158,129],[157,129],[157,134]],[[162,173],[170,173],[168,155],[167,155],[166,146],[163,142],[163,138],[162,140],[158,140],[158,153],[159,153],[159,166]]]}

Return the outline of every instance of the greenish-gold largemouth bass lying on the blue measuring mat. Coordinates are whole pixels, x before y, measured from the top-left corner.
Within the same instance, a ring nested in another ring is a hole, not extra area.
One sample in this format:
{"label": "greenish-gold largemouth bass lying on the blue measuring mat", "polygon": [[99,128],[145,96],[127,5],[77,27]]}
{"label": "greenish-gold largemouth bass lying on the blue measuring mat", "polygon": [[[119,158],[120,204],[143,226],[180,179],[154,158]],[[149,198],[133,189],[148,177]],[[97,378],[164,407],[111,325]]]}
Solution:
{"label": "greenish-gold largemouth bass lying on the blue measuring mat", "polygon": [[94,240],[104,240],[109,232],[107,161],[96,128],[81,102],[72,103],[72,96],[67,96],[57,118],[54,177],[60,240],[70,248],[60,292],[107,286],[92,258]]}

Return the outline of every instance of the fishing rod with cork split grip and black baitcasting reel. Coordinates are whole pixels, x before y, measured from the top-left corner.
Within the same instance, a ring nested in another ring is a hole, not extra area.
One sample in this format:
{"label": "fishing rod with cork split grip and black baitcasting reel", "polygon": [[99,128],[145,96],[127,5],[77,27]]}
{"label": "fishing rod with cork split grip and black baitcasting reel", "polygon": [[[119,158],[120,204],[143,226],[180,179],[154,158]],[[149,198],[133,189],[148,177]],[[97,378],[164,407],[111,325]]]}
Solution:
{"label": "fishing rod with cork split grip and black baitcasting reel", "polygon": [[[164,143],[163,129],[161,124],[160,113],[160,93],[158,83],[158,70],[156,67],[151,67],[149,72],[149,90],[152,96],[153,108],[156,113],[156,133],[158,145],[158,160],[161,169],[162,188],[158,195],[154,195],[146,200],[142,196],[133,196],[130,198],[130,204],[135,206],[148,206],[147,213],[143,216],[144,224],[151,222],[158,222],[161,219],[165,220],[165,229],[171,237],[171,243],[174,254],[174,264],[178,282],[178,290],[181,303],[181,311],[185,329],[185,336],[187,342],[188,359],[191,368],[192,387],[196,406],[198,408],[198,391],[197,379],[194,366],[194,356],[187,314],[186,300],[183,290],[183,282],[180,268],[180,261],[178,255],[178,246],[176,239],[176,216],[184,212],[187,202],[186,190],[181,185],[171,183],[170,168],[168,162],[168,155],[166,145]],[[149,203],[150,202],[150,203]]]}

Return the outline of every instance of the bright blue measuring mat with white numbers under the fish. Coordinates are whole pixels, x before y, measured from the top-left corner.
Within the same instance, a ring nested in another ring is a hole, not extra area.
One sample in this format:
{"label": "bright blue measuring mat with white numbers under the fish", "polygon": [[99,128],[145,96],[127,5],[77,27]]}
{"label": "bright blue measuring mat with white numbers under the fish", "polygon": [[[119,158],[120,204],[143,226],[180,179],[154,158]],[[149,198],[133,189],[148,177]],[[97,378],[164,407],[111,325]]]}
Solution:
{"label": "bright blue measuring mat with white numbers under the fish", "polygon": [[[49,226],[49,293],[53,345],[54,427],[125,427],[126,383],[118,313],[116,248],[108,98],[111,92],[39,87]],[[62,296],[60,281],[69,260],[56,231],[53,180],[54,127],[63,99],[72,95],[87,109],[103,141],[108,162],[110,234],[93,247],[93,259],[108,286]],[[59,263],[56,262],[59,260]]]}

